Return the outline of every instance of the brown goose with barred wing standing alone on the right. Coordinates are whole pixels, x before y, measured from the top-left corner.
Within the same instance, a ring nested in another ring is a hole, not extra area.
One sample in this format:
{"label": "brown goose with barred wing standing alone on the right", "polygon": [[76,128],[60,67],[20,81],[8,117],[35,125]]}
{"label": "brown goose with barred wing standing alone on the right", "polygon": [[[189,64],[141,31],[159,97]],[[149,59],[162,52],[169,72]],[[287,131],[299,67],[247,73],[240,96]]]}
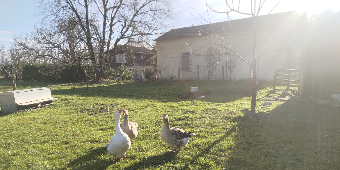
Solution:
{"label": "brown goose with barred wing standing alone on the right", "polygon": [[193,132],[183,131],[178,128],[170,128],[168,115],[163,114],[164,125],[162,130],[160,131],[160,138],[173,147],[173,152],[181,152],[181,148],[188,144],[188,141],[191,136],[195,136],[196,134]]}

